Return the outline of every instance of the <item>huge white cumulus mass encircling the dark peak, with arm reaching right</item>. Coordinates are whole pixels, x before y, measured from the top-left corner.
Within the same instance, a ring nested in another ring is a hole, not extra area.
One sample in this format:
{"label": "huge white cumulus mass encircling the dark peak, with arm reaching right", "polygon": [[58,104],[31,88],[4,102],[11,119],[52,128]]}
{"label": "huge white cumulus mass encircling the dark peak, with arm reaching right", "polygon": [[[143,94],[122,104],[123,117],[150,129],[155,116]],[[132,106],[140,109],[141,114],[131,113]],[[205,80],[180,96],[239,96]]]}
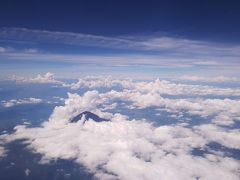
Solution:
{"label": "huge white cumulus mass encircling the dark peak, with arm reaching right", "polygon": [[[3,135],[4,139],[7,142],[25,139],[30,150],[43,155],[41,163],[58,158],[74,159],[99,179],[239,178],[238,160],[214,151],[202,156],[192,153],[194,149],[205,149],[210,142],[239,149],[239,130],[220,128],[216,124],[192,128],[181,124],[158,127],[146,120],[130,119],[126,115],[99,109],[99,106],[120,98],[141,107],[163,105],[197,114],[201,111],[202,114],[218,114],[218,111],[234,114],[239,112],[237,107],[231,109],[238,105],[234,104],[235,101],[203,100],[194,104],[197,102],[165,99],[156,93],[135,91],[88,91],[82,96],[70,93],[68,96],[65,105],[56,107],[49,121],[41,127],[17,126],[15,133]],[[90,119],[84,124],[81,121],[69,123],[72,117],[86,110],[110,121]]]}

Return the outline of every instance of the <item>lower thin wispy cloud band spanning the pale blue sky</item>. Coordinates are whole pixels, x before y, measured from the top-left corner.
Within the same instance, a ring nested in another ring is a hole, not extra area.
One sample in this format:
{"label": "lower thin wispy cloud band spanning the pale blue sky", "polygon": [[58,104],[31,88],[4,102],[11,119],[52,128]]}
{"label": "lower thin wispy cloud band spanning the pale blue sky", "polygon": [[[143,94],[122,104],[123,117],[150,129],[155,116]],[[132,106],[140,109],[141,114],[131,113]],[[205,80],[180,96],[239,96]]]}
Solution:
{"label": "lower thin wispy cloud band spanning the pale blue sky", "polygon": [[[0,53],[3,59],[29,60],[39,62],[69,62],[81,64],[101,64],[107,66],[160,66],[174,68],[189,68],[197,66],[238,68],[239,61],[235,58],[221,58],[209,60],[207,57],[169,57],[167,55],[147,54],[60,54],[46,53],[35,50],[11,51]],[[212,59],[212,58],[210,58]]]}

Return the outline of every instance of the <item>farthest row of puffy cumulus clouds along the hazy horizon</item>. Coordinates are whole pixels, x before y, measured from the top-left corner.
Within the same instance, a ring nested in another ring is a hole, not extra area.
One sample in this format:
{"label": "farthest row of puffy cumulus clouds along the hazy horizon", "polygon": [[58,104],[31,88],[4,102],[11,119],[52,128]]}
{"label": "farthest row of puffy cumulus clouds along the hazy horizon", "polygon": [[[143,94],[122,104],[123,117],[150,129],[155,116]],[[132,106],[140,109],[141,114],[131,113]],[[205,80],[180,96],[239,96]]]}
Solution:
{"label": "farthest row of puffy cumulus clouds along the hazy horizon", "polygon": [[79,78],[75,83],[65,83],[56,80],[50,72],[39,74],[37,77],[18,77],[13,76],[11,80],[18,83],[49,83],[57,84],[63,87],[69,87],[77,90],[80,88],[114,88],[121,87],[126,90],[138,91],[140,93],[157,93],[160,95],[195,95],[195,96],[240,96],[239,88],[219,88],[203,85],[187,85],[181,83],[173,83],[166,80],[156,79],[154,81],[133,81],[131,79],[114,79],[110,76],[86,76]]}

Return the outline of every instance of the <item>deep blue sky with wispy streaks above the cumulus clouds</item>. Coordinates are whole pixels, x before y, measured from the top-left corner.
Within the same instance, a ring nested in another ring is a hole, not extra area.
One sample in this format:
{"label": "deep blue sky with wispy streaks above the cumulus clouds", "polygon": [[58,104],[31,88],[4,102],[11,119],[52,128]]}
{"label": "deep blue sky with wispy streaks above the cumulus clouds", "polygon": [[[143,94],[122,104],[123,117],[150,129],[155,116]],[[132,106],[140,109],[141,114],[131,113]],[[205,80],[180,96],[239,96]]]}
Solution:
{"label": "deep blue sky with wispy streaks above the cumulus clouds", "polygon": [[1,77],[239,75],[239,1],[1,1]]}

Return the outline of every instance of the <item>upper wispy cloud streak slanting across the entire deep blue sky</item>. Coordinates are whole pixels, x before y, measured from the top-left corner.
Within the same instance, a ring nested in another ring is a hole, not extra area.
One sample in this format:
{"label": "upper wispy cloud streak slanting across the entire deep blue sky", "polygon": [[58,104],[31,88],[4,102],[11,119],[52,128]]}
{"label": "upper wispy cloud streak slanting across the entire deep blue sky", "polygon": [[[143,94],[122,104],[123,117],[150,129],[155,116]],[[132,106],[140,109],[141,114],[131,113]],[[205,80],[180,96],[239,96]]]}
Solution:
{"label": "upper wispy cloud streak slanting across the entire deep blue sky", "polygon": [[0,28],[1,40],[57,43],[113,49],[158,51],[172,55],[240,56],[240,46],[174,37],[107,37],[83,33],[55,32],[26,28]]}

